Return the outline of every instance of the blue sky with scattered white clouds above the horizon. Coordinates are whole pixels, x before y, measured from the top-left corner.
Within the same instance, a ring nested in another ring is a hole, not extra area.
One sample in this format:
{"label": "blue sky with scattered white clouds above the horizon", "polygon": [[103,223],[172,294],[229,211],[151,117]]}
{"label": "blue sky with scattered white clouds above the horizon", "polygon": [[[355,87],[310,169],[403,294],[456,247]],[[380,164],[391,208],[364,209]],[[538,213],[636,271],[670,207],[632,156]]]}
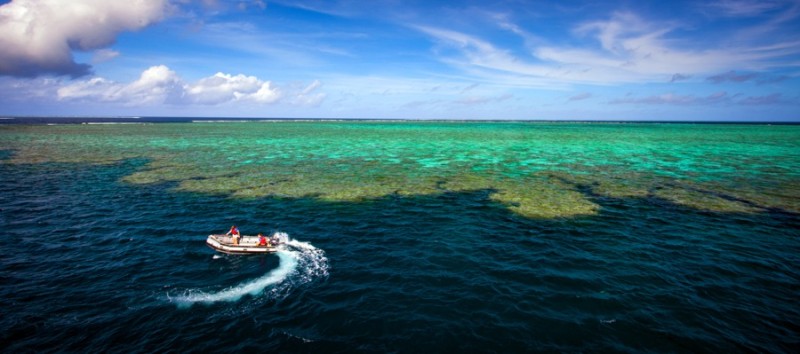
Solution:
{"label": "blue sky with scattered white clouds above the horizon", "polygon": [[800,0],[0,0],[0,115],[800,121]]}

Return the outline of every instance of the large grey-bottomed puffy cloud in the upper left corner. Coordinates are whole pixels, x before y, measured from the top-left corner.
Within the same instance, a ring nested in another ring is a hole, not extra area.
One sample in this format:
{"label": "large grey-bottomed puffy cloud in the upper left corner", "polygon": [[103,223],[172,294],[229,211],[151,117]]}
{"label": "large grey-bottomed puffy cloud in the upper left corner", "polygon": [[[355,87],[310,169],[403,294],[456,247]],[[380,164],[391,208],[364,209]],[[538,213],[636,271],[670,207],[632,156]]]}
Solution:
{"label": "large grey-bottomed puffy cloud in the upper left corner", "polygon": [[87,75],[91,67],[76,63],[74,50],[105,48],[167,9],[167,0],[14,0],[0,6],[0,75]]}

